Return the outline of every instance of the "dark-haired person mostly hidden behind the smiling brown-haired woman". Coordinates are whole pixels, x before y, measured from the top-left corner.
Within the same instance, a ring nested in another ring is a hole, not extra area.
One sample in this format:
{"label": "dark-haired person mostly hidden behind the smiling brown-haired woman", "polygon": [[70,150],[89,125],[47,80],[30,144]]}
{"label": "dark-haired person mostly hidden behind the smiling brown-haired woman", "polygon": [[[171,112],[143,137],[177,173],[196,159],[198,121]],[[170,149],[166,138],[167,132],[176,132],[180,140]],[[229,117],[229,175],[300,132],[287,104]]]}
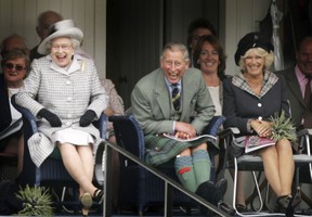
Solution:
{"label": "dark-haired person mostly hidden behind the smiling brown-haired woman", "polygon": [[191,55],[191,66],[194,67],[194,49],[200,38],[200,36],[213,35],[218,37],[218,34],[213,25],[207,18],[197,18],[193,21],[187,28],[187,48]]}

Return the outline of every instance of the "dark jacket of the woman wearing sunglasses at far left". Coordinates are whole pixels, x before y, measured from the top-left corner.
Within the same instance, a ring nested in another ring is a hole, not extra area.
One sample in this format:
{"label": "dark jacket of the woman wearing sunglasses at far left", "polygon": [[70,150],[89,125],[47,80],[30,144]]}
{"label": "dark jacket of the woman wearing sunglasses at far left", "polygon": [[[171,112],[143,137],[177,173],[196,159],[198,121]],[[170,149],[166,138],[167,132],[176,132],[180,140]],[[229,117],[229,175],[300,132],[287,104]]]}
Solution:
{"label": "dark jacket of the woman wearing sunglasses at far left", "polygon": [[12,122],[8,87],[3,74],[0,74],[0,131],[10,126]]}

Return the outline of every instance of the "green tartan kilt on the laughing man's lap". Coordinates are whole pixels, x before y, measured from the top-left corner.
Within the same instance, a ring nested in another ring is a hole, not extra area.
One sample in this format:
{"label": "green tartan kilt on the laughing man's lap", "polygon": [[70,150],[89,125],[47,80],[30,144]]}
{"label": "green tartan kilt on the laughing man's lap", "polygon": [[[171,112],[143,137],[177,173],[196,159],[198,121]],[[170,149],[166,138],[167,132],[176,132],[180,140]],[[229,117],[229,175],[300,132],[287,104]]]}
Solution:
{"label": "green tartan kilt on the laughing man's lap", "polygon": [[183,150],[192,146],[197,146],[204,142],[207,142],[208,146],[211,144],[217,148],[216,141],[210,138],[200,138],[191,142],[181,142],[165,137],[147,135],[144,137],[144,139],[146,149],[145,161],[147,164],[151,164],[153,166],[158,166],[160,164],[169,162],[178,154],[180,154]]}

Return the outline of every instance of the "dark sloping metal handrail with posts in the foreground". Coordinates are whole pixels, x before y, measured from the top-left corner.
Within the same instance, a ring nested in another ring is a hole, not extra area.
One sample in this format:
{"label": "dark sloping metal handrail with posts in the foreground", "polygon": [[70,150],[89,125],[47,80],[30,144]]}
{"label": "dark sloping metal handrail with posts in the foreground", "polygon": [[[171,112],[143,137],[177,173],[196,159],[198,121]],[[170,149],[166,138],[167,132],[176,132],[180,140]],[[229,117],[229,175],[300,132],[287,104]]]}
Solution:
{"label": "dark sloping metal handrail with posts in the foreground", "polygon": [[[104,146],[103,146],[104,148]],[[102,148],[102,149],[103,149]],[[229,216],[223,210],[219,209],[214,205],[210,204],[206,200],[202,199],[197,194],[188,191],[184,187],[182,187],[179,182],[174,181],[173,179],[169,178],[162,173],[159,173],[154,167],[147,165],[145,162],[142,162],[139,157],[131,154],[127,150],[122,149],[119,145],[110,144],[109,142],[105,142],[105,176],[104,176],[104,207],[103,207],[103,216],[112,216],[112,150],[116,150],[119,154],[122,154],[123,156],[130,158],[131,161],[135,162],[138,165],[142,166],[143,168],[147,169],[150,173],[154,174],[158,178],[162,179],[165,181],[165,214],[164,216],[169,217],[172,216],[172,190],[178,189],[179,191],[185,193],[190,197],[194,199],[198,203],[203,204],[210,210],[214,212],[219,216]]]}

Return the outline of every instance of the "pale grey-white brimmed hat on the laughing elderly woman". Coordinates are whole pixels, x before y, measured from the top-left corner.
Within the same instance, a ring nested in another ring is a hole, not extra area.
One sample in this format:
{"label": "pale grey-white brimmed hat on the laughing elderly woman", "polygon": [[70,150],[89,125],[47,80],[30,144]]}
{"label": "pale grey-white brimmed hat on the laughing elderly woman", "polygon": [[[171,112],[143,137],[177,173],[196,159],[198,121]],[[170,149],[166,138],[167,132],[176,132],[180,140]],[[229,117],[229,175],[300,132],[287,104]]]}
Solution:
{"label": "pale grey-white brimmed hat on the laughing elderly woman", "polygon": [[48,43],[54,38],[68,37],[82,41],[83,33],[75,27],[73,20],[60,21],[49,27],[49,36],[39,44],[37,51],[41,54],[50,53]]}

